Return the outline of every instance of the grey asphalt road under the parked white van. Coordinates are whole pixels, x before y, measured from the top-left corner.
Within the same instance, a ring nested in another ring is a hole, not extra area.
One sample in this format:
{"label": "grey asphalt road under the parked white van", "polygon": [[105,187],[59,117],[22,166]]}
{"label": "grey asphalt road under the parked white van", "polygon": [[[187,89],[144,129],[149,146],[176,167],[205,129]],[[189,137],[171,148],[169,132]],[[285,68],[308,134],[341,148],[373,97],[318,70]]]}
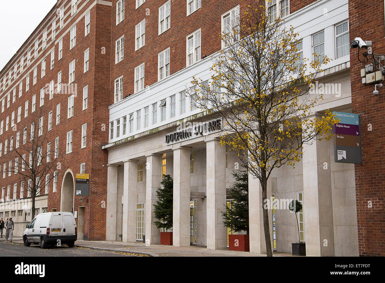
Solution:
{"label": "grey asphalt road under the parked white van", "polygon": [[69,248],[67,245],[40,248],[40,244],[29,247],[21,243],[0,242],[0,256],[132,256],[112,251],[91,250],[89,248]]}

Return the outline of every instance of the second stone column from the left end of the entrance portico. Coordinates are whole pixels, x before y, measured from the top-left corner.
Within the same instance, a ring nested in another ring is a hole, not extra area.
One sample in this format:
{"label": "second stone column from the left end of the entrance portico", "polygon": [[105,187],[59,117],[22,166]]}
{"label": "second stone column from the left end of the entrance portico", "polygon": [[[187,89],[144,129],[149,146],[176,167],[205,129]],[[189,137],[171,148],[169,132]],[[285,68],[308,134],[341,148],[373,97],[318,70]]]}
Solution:
{"label": "second stone column from the left end of the entrance portico", "polygon": [[136,241],[137,169],[137,160],[124,162],[123,242]]}

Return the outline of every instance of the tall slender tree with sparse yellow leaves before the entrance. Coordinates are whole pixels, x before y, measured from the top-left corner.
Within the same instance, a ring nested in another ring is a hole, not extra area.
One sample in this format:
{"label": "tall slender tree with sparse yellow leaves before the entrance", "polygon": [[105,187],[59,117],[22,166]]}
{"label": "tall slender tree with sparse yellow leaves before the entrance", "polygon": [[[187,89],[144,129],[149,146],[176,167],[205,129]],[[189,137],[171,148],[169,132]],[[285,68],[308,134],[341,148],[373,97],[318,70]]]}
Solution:
{"label": "tall slender tree with sparse yellow leaves before the entrance", "polygon": [[[266,0],[248,0],[246,11],[233,15],[221,34],[224,48],[212,59],[211,80],[196,85],[191,99],[202,111],[224,121],[222,146],[238,154],[244,167],[262,187],[274,168],[295,166],[303,144],[330,139],[338,122],[330,111],[311,118],[322,94],[310,94],[322,67],[330,61],[314,54],[302,58],[295,28],[281,17],[269,15]],[[268,210],[263,209],[263,228],[268,256],[272,256]]]}

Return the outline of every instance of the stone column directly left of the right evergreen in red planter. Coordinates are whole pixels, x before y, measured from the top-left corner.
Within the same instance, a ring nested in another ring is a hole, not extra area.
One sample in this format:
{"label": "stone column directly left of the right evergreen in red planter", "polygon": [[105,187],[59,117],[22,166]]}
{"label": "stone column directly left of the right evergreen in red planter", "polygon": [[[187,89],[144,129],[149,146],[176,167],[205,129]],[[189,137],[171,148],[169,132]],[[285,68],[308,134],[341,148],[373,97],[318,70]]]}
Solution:
{"label": "stone column directly left of the right evergreen in red planter", "polygon": [[207,248],[226,248],[226,228],[221,211],[226,204],[226,148],[219,140],[206,141]]}

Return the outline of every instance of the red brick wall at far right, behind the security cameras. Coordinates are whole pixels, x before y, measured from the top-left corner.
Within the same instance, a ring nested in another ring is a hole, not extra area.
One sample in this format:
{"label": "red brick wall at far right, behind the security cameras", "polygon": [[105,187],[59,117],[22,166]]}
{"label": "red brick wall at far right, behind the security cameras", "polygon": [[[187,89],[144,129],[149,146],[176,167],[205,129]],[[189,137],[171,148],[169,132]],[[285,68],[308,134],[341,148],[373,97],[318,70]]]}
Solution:
{"label": "red brick wall at far right, behind the security cameras", "polygon": [[[372,40],[373,53],[385,54],[383,1],[349,1],[349,25],[350,41],[355,37]],[[361,256],[385,256],[385,94],[378,89],[375,96],[373,84],[362,84],[364,64],[358,61],[357,52],[350,50],[352,112],[361,116],[363,156],[363,164],[355,164],[358,247]],[[372,131],[368,131],[369,124]]]}

